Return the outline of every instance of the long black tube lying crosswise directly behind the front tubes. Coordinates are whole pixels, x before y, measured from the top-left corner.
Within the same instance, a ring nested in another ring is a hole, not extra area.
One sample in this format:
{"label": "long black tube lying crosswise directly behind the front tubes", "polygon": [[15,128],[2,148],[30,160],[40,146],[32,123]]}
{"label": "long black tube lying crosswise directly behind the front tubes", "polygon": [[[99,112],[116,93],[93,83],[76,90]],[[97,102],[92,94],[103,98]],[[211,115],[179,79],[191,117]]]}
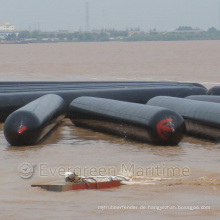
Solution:
{"label": "long black tube lying crosswise directly behind the front tubes", "polygon": [[[4,122],[6,117],[13,111],[48,93],[51,93],[51,91],[0,93],[0,121]],[[203,95],[206,94],[206,89],[196,86],[157,86],[146,88],[134,87],[115,89],[84,88],[78,90],[58,90],[54,91],[53,93],[61,96],[67,102],[67,104],[70,104],[73,99],[80,96],[93,96],[145,104],[149,99],[158,95],[175,97]]]}

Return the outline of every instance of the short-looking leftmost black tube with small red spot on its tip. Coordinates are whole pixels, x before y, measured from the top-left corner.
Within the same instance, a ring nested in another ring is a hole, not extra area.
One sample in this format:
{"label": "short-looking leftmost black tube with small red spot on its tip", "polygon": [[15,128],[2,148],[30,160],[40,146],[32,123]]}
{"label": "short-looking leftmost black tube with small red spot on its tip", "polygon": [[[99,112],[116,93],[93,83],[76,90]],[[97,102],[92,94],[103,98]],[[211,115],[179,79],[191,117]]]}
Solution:
{"label": "short-looking leftmost black tube with small red spot on its tip", "polygon": [[13,146],[35,145],[65,117],[66,110],[60,96],[40,97],[8,116],[5,138]]}

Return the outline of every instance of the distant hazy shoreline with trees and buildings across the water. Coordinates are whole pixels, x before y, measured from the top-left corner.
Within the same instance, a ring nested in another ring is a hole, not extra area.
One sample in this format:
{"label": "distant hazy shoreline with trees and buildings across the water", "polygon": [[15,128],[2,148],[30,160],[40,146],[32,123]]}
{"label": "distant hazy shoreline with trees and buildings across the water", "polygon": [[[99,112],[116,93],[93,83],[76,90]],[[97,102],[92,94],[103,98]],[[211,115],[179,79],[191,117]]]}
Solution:
{"label": "distant hazy shoreline with trees and buildings across the water", "polygon": [[136,42],[136,41],[201,41],[220,40],[220,31],[201,30],[150,31],[107,30],[94,32],[41,32],[20,31],[0,33],[0,44],[59,43],[59,42]]}

